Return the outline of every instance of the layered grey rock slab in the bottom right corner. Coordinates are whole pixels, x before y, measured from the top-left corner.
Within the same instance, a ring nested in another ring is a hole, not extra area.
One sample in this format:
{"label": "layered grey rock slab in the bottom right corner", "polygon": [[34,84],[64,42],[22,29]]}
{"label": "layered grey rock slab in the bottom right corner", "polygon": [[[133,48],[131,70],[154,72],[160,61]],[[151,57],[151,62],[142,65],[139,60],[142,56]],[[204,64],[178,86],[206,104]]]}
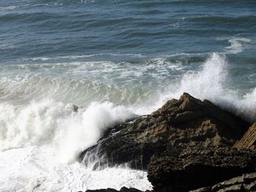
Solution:
{"label": "layered grey rock slab in the bottom right corner", "polygon": [[256,172],[243,174],[217,185],[189,192],[256,191]]}

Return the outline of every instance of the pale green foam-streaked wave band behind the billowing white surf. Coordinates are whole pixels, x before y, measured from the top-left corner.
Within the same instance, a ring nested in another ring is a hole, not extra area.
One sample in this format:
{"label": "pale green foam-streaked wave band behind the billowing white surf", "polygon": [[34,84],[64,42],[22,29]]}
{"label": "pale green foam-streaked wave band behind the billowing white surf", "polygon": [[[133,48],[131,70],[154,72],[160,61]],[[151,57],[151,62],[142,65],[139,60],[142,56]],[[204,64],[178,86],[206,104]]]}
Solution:
{"label": "pale green foam-streaked wave band behind the billowing white surf", "polygon": [[[91,101],[138,104],[147,99],[148,93],[154,95],[153,92],[157,92],[152,91],[152,86],[160,87],[166,77],[176,77],[173,72],[181,73],[186,68],[182,62],[165,58],[135,64],[73,61],[1,65],[0,101],[27,104],[32,99],[56,99],[83,106]],[[145,81],[144,78],[148,80]]]}

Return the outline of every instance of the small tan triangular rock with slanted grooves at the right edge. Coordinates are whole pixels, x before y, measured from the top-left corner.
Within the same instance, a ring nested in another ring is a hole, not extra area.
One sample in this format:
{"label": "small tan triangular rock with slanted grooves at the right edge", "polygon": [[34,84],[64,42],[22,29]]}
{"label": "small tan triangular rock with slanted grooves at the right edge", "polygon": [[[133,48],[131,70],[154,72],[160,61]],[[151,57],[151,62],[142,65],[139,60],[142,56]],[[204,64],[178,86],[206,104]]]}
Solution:
{"label": "small tan triangular rock with slanted grooves at the right edge", "polygon": [[238,149],[256,150],[256,123],[254,123],[234,147]]}

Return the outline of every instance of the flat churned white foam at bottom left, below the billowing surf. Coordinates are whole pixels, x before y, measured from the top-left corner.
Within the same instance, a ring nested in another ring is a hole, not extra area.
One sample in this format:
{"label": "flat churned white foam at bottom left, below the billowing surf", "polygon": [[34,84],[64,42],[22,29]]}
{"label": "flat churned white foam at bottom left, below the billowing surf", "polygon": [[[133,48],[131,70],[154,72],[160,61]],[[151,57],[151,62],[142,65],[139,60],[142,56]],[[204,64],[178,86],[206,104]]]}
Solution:
{"label": "flat churned white foam at bottom left, below the billowing surf", "polygon": [[[50,147],[24,147],[0,153],[0,191],[86,191],[135,187],[151,189],[147,173],[125,168],[92,171],[83,164],[59,164]],[[115,181],[115,182],[113,182]]]}

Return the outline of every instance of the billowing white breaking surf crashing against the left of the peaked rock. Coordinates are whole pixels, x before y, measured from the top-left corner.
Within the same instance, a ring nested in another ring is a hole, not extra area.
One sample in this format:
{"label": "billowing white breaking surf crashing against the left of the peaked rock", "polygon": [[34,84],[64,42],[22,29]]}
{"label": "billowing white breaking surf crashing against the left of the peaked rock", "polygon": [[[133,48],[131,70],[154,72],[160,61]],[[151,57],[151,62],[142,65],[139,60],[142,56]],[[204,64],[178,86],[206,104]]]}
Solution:
{"label": "billowing white breaking surf crashing against the left of the peaked rock", "polygon": [[75,161],[78,153],[93,145],[105,128],[135,117],[131,111],[109,102],[93,102],[85,110],[67,110],[53,100],[32,102],[23,109],[0,105],[1,148],[50,145],[61,161]]}

